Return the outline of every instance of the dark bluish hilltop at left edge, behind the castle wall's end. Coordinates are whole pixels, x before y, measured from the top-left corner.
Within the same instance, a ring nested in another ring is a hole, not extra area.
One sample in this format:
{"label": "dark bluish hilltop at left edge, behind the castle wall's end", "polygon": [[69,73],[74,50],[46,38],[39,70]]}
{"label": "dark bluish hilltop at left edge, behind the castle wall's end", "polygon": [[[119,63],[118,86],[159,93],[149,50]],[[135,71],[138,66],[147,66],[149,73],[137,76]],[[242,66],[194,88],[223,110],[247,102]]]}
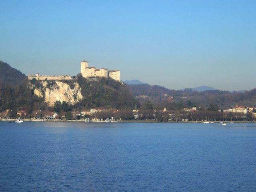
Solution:
{"label": "dark bluish hilltop at left edge, behind the castle wall's end", "polygon": [[25,82],[26,75],[12,68],[9,64],[0,61],[0,83],[9,85],[20,85]]}

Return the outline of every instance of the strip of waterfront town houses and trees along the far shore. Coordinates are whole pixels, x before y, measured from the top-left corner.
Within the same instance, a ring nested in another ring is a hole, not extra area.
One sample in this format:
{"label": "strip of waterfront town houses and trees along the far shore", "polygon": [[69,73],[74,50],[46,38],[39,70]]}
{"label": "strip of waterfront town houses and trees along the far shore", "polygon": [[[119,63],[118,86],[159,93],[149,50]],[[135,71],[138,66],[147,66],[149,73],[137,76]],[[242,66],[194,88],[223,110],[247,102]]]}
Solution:
{"label": "strip of waterfront town houses and trees along the far shore", "polygon": [[65,111],[41,111],[34,110],[30,115],[24,110],[18,110],[13,114],[11,110],[6,109],[0,112],[0,120],[10,120],[12,118],[24,118],[27,121],[84,121],[90,120],[92,122],[122,120],[150,120],[159,122],[178,122],[178,121],[253,121],[256,118],[256,107],[236,106],[234,108],[218,110],[218,111],[202,111],[197,110],[196,107],[183,108],[179,111],[167,110],[117,110],[105,107],[96,107],[91,109],[77,110],[70,112]]}

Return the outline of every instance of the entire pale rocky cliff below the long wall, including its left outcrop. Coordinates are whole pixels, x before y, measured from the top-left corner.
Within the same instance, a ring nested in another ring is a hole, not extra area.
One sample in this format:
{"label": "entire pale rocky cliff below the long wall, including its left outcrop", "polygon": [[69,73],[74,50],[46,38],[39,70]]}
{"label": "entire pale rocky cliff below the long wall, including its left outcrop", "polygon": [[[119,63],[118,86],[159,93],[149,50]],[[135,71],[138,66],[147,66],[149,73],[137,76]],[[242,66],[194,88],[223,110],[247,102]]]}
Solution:
{"label": "entire pale rocky cliff below the long wall, including its left outcrop", "polygon": [[46,82],[42,81],[37,86],[30,83],[30,88],[34,89],[34,94],[44,98],[49,106],[53,106],[54,102],[68,102],[75,104],[83,99],[81,88],[77,82],[67,84],[61,81]]}

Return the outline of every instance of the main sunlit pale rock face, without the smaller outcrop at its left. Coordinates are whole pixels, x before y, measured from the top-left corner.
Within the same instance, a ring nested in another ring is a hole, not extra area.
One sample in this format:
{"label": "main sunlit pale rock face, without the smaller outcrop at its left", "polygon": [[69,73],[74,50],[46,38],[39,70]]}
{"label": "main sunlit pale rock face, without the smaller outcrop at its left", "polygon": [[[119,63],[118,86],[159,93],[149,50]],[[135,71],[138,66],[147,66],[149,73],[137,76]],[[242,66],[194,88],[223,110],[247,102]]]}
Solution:
{"label": "main sunlit pale rock face, without the smaller outcrop at its left", "polygon": [[74,84],[74,88],[70,88],[70,85],[56,81],[51,88],[46,88],[45,90],[45,102],[49,106],[53,106],[54,102],[68,102],[70,104],[75,104],[83,99],[81,94],[81,88],[78,83]]}

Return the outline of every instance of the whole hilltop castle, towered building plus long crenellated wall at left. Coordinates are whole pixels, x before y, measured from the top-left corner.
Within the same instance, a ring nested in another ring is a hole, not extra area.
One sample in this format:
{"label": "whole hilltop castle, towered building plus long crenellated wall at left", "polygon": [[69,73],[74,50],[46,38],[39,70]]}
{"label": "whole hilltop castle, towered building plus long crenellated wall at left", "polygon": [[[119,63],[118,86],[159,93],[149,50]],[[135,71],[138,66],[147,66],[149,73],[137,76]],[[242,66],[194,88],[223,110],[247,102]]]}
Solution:
{"label": "whole hilltop castle, towered building plus long crenellated wall at left", "polygon": [[[96,68],[89,67],[88,61],[81,61],[81,74],[84,78],[89,77],[105,77],[112,78],[116,81],[120,81],[120,70],[107,70],[106,68]],[[71,75],[28,75],[28,80],[32,80],[35,78],[36,80],[72,80]]]}

